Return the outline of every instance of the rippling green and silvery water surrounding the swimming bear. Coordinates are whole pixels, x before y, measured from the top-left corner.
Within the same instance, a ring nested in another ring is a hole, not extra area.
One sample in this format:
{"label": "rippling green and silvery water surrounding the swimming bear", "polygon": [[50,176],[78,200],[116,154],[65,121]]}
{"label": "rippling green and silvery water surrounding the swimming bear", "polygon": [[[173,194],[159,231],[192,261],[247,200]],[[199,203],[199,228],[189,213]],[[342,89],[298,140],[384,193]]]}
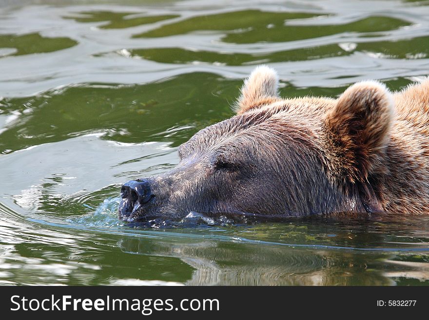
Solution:
{"label": "rippling green and silvery water surrounding the swimming bear", "polygon": [[291,97],[428,75],[428,1],[121,3],[0,6],[0,284],[429,284],[426,217],[116,213],[259,63]]}

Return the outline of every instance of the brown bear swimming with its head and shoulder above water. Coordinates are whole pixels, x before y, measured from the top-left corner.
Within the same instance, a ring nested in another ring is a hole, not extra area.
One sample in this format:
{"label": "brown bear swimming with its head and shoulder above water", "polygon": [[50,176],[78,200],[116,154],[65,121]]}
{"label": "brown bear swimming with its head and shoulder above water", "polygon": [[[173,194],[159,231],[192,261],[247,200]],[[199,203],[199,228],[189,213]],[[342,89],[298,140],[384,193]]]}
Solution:
{"label": "brown bear swimming with its head and shoulder above water", "polygon": [[394,94],[358,82],[338,99],[277,90],[257,67],[236,115],[182,144],[175,169],[122,186],[120,218],[428,214],[428,79]]}

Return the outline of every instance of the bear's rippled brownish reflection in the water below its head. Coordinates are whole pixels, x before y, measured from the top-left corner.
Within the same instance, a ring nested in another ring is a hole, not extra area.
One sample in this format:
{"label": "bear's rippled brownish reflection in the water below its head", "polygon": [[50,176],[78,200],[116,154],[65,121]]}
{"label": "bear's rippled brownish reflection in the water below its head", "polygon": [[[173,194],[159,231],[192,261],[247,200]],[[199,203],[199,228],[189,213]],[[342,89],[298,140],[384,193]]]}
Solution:
{"label": "bear's rippled brownish reflection in the water below its head", "polygon": [[[195,271],[188,285],[388,285],[393,281],[371,264],[385,254],[218,243],[126,238],[122,251],[175,257]],[[429,279],[429,278],[426,278]]]}

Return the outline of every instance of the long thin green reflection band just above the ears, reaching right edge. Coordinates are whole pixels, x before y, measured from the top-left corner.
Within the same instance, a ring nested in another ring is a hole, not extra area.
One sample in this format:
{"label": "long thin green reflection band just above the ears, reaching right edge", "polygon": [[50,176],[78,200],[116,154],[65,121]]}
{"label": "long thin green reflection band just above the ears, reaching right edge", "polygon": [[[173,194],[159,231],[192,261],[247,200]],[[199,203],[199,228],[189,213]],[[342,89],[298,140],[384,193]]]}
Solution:
{"label": "long thin green reflection band just above the ears, reaching right edge", "polygon": [[[269,54],[218,53],[183,48],[122,49],[117,55],[142,58],[161,63],[205,62],[229,66],[256,65],[260,63],[305,61],[333,56],[349,56],[354,52],[364,52],[374,57],[395,59],[422,59],[429,55],[429,37],[418,37],[396,41],[374,41],[356,43],[337,43],[292,49]],[[106,56],[101,54],[98,56]]]}

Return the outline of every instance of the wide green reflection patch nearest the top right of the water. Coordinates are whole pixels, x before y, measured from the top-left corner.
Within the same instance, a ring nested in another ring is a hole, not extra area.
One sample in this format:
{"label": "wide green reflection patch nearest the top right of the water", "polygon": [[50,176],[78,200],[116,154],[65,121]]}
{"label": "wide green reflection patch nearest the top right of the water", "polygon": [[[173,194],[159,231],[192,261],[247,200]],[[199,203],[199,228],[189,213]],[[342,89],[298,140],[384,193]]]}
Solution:
{"label": "wide green reflection patch nearest the top right of the water", "polygon": [[[257,10],[235,11],[204,17],[195,17],[183,21],[165,24],[138,37],[166,37],[182,35],[198,30],[234,30],[222,38],[222,41],[233,43],[285,42],[315,37],[326,37],[345,32],[380,32],[408,26],[406,20],[390,17],[369,17],[344,24],[322,23],[314,28],[311,25],[293,25],[294,19],[315,17],[308,13],[261,12]],[[319,14],[320,17],[320,14]],[[302,22],[302,21],[301,21]]]}

